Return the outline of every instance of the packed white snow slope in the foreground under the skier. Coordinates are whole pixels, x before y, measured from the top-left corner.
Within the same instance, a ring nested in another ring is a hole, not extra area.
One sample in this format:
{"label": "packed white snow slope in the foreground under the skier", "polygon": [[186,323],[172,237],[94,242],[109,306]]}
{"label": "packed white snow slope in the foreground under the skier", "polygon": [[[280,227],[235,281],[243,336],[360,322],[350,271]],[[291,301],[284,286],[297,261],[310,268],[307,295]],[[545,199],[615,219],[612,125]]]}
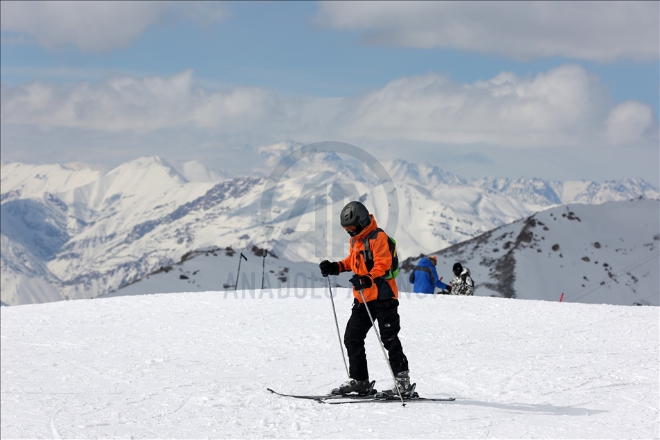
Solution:
{"label": "packed white snow slope in the foreground under the skier", "polygon": [[[324,288],[2,307],[3,438],[658,438],[659,309],[400,298],[422,396],[324,405],[346,379]],[[335,291],[343,333],[350,293]],[[371,379],[390,387],[366,340]]]}

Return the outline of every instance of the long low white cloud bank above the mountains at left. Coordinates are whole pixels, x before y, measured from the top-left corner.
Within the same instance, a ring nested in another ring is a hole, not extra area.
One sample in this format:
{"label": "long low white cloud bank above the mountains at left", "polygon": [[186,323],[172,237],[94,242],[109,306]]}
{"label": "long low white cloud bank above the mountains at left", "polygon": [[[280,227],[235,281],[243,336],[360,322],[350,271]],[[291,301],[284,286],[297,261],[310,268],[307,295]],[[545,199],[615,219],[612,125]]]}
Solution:
{"label": "long low white cloud bank above the mountains at left", "polygon": [[277,120],[278,100],[260,87],[208,93],[193,84],[193,72],[172,77],[113,77],[82,82],[70,91],[34,82],[2,86],[4,124],[80,127],[101,131],[151,131],[190,127],[239,131]]}

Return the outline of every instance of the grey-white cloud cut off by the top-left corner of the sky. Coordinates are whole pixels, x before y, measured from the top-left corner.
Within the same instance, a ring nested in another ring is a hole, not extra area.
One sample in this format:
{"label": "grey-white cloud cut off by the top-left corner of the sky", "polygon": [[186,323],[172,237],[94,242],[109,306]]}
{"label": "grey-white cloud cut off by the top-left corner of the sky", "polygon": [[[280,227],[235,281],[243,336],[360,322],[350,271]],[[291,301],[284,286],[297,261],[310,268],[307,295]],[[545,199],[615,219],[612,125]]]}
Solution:
{"label": "grey-white cloud cut off by the top-left corner of the sky", "polygon": [[73,44],[84,52],[108,51],[130,44],[146,28],[171,13],[201,24],[224,17],[217,2],[172,1],[2,1],[0,30],[3,41],[25,41],[55,48]]}

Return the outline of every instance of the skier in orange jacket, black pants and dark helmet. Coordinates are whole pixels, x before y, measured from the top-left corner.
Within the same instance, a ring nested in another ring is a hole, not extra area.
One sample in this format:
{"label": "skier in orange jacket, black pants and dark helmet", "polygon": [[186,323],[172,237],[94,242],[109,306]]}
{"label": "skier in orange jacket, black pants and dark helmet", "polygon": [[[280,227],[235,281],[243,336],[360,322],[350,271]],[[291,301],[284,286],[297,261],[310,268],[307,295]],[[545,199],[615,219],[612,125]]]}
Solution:
{"label": "skier in orange jacket, black pants and dark helmet", "polygon": [[[364,351],[364,340],[372,327],[366,310],[368,306],[374,321],[378,322],[378,330],[383,345],[389,353],[389,363],[395,375],[395,386],[383,393],[394,396],[398,395],[400,390],[405,398],[410,395],[411,384],[408,359],[403,353],[398,337],[400,330],[398,289],[395,279],[388,277],[392,264],[389,239],[380,229],[379,232],[373,233],[378,228],[376,220],[359,201],[352,201],[344,206],[339,218],[341,226],[351,237],[350,254],[341,262],[325,260],[319,264],[319,268],[324,277],[353,271],[354,275],[350,278],[350,283],[353,284],[355,299],[344,333],[350,378],[339,388],[333,389],[332,394],[371,392],[372,385],[369,381]],[[366,249],[366,241],[371,250]],[[366,304],[362,301],[360,291],[364,295]]]}

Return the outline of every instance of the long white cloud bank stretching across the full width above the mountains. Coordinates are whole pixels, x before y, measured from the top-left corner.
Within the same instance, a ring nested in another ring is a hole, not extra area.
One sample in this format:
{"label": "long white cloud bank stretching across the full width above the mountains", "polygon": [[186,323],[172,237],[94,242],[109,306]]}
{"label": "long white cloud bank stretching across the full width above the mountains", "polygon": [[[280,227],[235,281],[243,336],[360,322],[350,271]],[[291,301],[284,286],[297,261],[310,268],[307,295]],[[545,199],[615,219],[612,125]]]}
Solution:
{"label": "long white cloud bank stretching across the full width above the mountains", "polygon": [[438,73],[400,77],[382,89],[330,102],[283,100],[260,87],[210,92],[195,84],[190,70],[171,77],[112,77],[68,90],[34,82],[1,87],[0,122],[116,133],[175,128],[310,142],[342,138],[527,148],[658,141],[657,120],[647,104],[615,106],[598,78],[578,65],[535,77],[503,72],[472,84]]}

